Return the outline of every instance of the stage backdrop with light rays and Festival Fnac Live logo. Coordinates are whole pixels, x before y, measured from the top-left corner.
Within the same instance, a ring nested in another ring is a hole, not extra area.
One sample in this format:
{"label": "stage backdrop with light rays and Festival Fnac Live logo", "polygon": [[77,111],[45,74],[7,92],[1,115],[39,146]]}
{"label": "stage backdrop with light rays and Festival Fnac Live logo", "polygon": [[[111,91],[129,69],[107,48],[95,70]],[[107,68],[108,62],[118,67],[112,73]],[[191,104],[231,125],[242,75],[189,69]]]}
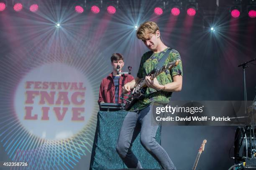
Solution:
{"label": "stage backdrop with light rays and Festival Fnac Live logo", "polygon": [[[36,13],[26,5],[15,12],[10,2],[0,12],[0,161],[28,162],[30,169],[88,169],[98,90],[112,70],[110,56],[122,53],[123,71],[132,66],[136,76],[148,49],[134,26],[146,20],[158,23],[164,43],[182,58],[183,87],[172,100],[243,100],[237,65],[255,57],[255,18],[232,19],[225,8],[215,18],[214,34],[203,29],[202,12],[157,16],[154,0],[120,1],[113,15],[103,9],[79,14],[72,1],[63,2],[41,3]],[[255,96],[255,73],[254,65],[246,69],[248,100]],[[234,163],[229,151],[236,127],[162,129],[162,146],[178,169],[192,167],[203,139],[198,169]]]}

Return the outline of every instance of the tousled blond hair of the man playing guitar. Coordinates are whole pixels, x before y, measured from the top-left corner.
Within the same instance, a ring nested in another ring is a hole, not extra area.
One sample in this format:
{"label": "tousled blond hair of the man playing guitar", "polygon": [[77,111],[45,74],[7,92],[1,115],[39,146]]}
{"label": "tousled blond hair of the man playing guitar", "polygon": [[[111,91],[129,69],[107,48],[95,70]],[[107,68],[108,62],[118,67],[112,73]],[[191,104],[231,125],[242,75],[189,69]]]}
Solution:
{"label": "tousled blond hair of the man playing guitar", "polygon": [[157,24],[153,21],[146,21],[141,24],[137,30],[137,38],[141,40],[146,40],[150,38],[150,34],[155,34],[159,30]]}

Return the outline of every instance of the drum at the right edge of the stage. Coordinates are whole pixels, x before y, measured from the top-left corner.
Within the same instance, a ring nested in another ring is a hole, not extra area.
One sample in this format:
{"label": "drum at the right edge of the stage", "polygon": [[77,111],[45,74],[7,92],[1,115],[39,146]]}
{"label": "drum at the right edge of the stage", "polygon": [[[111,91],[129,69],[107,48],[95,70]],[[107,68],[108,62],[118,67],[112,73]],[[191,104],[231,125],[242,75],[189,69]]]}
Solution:
{"label": "drum at the right edge of the stage", "polygon": [[235,134],[235,147],[234,147],[234,154],[235,154],[235,162],[236,164],[240,162],[245,162],[245,158],[253,157],[253,151],[256,147],[256,141],[254,140],[254,136],[256,136],[256,129],[254,129],[253,135],[253,128],[252,127],[238,127],[236,129]]}

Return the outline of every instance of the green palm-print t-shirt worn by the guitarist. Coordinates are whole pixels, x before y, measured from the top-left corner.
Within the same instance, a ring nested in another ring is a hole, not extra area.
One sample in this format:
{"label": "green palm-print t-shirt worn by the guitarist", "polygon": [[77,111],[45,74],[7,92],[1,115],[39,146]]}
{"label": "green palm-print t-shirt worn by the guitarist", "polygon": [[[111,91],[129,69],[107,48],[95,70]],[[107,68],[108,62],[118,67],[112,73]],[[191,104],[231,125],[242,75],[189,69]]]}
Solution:
{"label": "green palm-print t-shirt worn by the guitarist", "polygon": [[[145,76],[150,73],[157,66],[159,60],[164,56],[168,48],[159,53],[152,53],[152,51],[148,51],[143,54],[141,57],[141,63],[138,69],[138,78],[145,78]],[[170,63],[174,60],[181,59],[179,56],[179,52],[172,49],[169,53],[164,64]],[[162,67],[162,66],[161,66]],[[173,82],[173,76],[182,75],[182,62],[179,61],[178,65],[173,67],[171,70],[167,69],[163,71],[161,74],[156,76],[157,81],[161,85],[165,85]],[[138,111],[146,108],[149,104],[159,103],[159,104],[168,104],[170,101],[170,97],[172,96],[172,92],[169,91],[156,91],[155,89],[146,88],[145,97],[143,99],[138,100],[130,109],[130,112]]]}

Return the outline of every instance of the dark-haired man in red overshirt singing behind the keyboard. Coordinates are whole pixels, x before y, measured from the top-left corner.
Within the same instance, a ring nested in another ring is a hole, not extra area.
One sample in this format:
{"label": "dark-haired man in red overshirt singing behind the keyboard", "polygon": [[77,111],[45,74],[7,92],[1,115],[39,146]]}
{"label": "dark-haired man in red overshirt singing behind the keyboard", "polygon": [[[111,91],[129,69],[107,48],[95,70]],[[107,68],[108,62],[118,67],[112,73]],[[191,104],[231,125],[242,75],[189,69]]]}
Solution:
{"label": "dark-haired man in red overshirt singing behind the keyboard", "polygon": [[[101,81],[98,104],[121,103],[122,87],[134,79],[130,74],[118,74],[122,72],[124,66],[124,58],[120,53],[113,53],[110,59],[113,72]],[[127,99],[128,96],[124,98]]]}

